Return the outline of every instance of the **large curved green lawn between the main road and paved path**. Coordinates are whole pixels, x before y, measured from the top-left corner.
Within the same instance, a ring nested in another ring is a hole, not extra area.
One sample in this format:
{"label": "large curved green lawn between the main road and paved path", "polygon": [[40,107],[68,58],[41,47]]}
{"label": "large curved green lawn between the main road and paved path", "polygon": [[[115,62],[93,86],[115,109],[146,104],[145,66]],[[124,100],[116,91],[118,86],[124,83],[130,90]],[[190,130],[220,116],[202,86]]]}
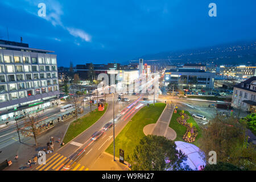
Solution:
{"label": "large curved green lawn between the main road and paved path", "polygon": [[[119,148],[125,151],[125,160],[127,160],[127,155],[130,156],[133,154],[134,147],[139,144],[141,138],[145,135],[143,133],[143,127],[156,123],[158,118],[162,114],[164,107],[166,104],[164,103],[156,103],[155,106],[151,104],[149,107],[144,106],[141,110],[138,111],[131,118],[131,121],[127,123],[124,129],[119,133],[119,135],[115,138],[115,156],[119,156]],[[106,149],[106,152],[113,155],[113,142]]]}

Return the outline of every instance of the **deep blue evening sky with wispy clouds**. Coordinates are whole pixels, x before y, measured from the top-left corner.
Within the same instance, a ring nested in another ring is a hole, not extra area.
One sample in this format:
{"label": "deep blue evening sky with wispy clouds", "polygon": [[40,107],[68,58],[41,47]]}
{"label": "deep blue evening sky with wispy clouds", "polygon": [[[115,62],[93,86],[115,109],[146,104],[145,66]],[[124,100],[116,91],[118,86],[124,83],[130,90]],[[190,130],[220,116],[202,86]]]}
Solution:
{"label": "deep blue evening sky with wispy clouds", "polygon": [[[46,4],[46,17],[38,4]],[[209,3],[217,17],[210,17]],[[55,51],[58,66],[256,39],[255,0],[1,0],[0,39]]]}

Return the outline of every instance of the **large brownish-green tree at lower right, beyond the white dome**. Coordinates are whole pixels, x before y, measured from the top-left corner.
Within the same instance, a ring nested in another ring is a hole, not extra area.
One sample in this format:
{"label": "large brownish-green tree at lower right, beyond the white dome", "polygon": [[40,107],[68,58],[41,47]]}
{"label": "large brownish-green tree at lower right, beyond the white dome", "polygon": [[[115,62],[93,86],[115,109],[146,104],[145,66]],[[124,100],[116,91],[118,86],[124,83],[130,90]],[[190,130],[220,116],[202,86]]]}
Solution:
{"label": "large brownish-green tree at lower right, beyond the white dome", "polygon": [[231,163],[242,169],[255,169],[256,150],[247,142],[246,125],[237,118],[216,117],[203,129],[200,148],[208,161],[209,151],[215,151],[217,161]]}

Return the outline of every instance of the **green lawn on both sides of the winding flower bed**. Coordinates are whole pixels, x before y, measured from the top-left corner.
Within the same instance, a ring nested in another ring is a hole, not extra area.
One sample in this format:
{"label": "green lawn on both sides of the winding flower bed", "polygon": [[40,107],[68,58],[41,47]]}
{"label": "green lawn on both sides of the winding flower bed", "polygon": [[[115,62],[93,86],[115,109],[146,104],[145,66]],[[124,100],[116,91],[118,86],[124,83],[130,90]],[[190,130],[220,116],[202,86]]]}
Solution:
{"label": "green lawn on both sides of the winding flower bed", "polygon": [[[180,125],[176,120],[180,116],[179,115],[180,112],[181,112],[181,110],[177,110],[176,114],[175,113],[172,114],[172,118],[171,118],[171,122],[170,122],[169,126],[176,131],[177,138],[175,139],[175,141],[183,141],[184,142],[182,137],[186,133],[187,127]],[[195,142],[192,143],[198,147],[199,146],[198,140],[201,137],[201,129],[200,129],[199,125],[197,125],[197,123],[195,122],[195,119],[188,113],[188,111],[184,111],[184,113],[189,115],[189,119],[187,120],[187,122],[193,123],[193,126],[195,126],[197,131],[199,132],[196,137]]]}

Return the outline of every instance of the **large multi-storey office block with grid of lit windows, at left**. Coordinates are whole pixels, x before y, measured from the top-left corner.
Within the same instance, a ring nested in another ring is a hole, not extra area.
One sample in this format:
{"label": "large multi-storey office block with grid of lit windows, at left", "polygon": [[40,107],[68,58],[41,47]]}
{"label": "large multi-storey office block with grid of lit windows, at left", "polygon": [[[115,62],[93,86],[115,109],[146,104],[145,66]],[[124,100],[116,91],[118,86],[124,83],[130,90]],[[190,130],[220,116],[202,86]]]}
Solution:
{"label": "large multi-storey office block with grid of lit windows, at left", "polygon": [[0,121],[59,102],[56,55],[28,44],[0,41]]}

